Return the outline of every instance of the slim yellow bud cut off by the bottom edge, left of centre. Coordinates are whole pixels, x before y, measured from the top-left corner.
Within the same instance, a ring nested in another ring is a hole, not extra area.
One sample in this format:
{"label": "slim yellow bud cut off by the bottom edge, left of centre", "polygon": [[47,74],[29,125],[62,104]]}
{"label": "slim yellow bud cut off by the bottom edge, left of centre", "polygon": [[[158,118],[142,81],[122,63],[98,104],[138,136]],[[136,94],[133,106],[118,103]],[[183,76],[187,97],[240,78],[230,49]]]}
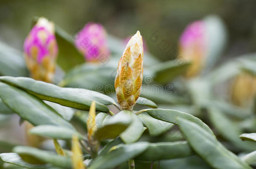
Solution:
{"label": "slim yellow bud cut off by the bottom edge, left of centre", "polygon": [[73,136],[72,137],[72,156],[71,156],[71,161],[72,161],[72,166],[73,169],[86,169],[86,166],[83,163],[83,154],[81,150],[81,146],[78,142],[78,136]]}

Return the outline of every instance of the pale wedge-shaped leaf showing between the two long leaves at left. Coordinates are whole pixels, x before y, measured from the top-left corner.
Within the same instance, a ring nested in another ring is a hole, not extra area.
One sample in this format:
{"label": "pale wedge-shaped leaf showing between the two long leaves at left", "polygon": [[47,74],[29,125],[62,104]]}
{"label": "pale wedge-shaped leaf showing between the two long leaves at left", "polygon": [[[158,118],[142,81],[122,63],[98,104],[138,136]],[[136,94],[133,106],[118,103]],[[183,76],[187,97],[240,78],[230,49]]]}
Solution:
{"label": "pale wedge-shaped leaf showing between the two long leaves at left", "polygon": [[62,106],[60,104],[53,103],[50,101],[44,101],[44,103],[46,103],[47,105],[52,107],[55,111],[57,111],[67,121],[70,121],[75,113],[73,108],[70,108],[70,107]]}

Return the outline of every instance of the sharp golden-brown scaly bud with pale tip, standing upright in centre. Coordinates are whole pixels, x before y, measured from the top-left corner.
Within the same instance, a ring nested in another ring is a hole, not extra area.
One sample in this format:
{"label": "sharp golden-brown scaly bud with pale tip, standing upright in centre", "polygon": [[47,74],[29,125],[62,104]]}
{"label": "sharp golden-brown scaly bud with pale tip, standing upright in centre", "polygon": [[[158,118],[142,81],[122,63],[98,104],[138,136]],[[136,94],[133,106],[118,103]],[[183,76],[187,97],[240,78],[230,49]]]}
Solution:
{"label": "sharp golden-brown scaly bud with pale tip, standing upright in centre", "polygon": [[141,93],[143,79],[143,42],[139,31],[125,47],[118,62],[115,91],[123,110],[132,110]]}

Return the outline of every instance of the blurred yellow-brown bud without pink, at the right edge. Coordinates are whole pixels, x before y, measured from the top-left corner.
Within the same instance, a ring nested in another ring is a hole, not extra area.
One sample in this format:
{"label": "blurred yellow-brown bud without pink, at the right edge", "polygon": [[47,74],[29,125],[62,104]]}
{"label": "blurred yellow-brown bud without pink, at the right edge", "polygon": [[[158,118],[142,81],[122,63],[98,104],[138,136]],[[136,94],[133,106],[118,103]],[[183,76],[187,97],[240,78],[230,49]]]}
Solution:
{"label": "blurred yellow-brown bud without pink, at the right edge", "polygon": [[231,99],[235,105],[248,106],[256,95],[256,77],[249,73],[240,73],[232,86]]}

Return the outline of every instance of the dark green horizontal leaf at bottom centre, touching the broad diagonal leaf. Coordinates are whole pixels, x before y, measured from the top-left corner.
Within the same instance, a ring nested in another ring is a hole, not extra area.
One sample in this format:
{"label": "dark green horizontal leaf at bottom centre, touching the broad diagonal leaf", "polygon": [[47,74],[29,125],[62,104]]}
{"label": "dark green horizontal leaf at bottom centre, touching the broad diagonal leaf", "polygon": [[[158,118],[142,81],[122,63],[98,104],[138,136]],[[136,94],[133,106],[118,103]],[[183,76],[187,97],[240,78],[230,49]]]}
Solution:
{"label": "dark green horizontal leaf at bottom centre, touching the broad diagonal leaf", "polygon": [[193,150],[187,141],[150,143],[149,147],[135,159],[141,161],[157,161],[176,159],[193,155]]}

